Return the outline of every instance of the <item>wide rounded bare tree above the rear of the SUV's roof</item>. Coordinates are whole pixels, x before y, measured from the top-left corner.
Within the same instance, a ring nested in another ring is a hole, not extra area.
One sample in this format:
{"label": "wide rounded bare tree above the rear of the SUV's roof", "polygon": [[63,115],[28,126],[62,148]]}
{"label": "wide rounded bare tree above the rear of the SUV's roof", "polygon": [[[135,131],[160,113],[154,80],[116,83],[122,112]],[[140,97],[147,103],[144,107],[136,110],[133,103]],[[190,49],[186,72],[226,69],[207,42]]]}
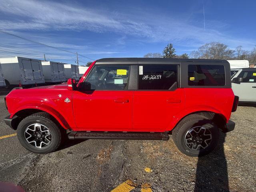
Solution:
{"label": "wide rounded bare tree above the rear of the SUV's roof", "polygon": [[193,52],[192,58],[201,59],[230,59],[234,57],[234,50],[219,42],[206,43]]}

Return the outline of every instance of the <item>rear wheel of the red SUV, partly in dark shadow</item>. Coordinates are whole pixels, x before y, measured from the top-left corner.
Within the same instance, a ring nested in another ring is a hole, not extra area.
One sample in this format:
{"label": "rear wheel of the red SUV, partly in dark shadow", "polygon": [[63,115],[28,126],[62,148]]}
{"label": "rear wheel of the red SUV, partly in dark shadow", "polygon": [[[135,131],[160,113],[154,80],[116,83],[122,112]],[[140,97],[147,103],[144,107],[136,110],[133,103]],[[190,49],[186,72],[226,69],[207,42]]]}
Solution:
{"label": "rear wheel of the red SUV, partly in dark shadow", "polygon": [[172,131],[174,143],[188,156],[204,156],[216,147],[219,129],[212,120],[192,114],[185,117]]}

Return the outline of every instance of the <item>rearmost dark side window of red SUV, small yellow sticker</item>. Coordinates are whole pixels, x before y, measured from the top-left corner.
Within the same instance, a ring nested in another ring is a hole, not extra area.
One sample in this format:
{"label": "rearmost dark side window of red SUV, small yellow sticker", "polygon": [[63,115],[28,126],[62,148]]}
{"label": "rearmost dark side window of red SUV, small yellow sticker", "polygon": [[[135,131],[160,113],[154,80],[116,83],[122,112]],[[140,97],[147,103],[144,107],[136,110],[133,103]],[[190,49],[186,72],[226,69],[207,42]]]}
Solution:
{"label": "rearmost dark side window of red SUV, small yellow sticker", "polygon": [[188,65],[189,86],[224,86],[223,65]]}

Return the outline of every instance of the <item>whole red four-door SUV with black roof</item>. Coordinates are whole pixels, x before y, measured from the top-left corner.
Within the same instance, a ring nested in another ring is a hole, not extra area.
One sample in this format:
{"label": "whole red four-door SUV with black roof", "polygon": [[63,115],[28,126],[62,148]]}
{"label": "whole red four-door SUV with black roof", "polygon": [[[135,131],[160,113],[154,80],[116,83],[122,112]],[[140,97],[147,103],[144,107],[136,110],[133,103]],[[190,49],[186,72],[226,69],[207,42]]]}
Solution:
{"label": "whole red four-door SUV with black roof", "polygon": [[35,153],[69,139],[168,140],[186,155],[208,154],[237,107],[226,60],[105,58],[78,83],[15,89],[6,96],[20,143]]}

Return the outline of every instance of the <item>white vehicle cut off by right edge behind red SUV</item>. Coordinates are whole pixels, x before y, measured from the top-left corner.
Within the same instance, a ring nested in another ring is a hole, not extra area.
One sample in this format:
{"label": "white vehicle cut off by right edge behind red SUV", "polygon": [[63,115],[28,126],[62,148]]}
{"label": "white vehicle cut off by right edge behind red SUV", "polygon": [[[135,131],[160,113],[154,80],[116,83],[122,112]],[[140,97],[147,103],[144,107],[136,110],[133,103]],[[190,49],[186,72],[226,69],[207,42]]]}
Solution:
{"label": "white vehicle cut off by right edge behind red SUV", "polygon": [[239,103],[256,104],[256,68],[231,69],[232,90]]}

